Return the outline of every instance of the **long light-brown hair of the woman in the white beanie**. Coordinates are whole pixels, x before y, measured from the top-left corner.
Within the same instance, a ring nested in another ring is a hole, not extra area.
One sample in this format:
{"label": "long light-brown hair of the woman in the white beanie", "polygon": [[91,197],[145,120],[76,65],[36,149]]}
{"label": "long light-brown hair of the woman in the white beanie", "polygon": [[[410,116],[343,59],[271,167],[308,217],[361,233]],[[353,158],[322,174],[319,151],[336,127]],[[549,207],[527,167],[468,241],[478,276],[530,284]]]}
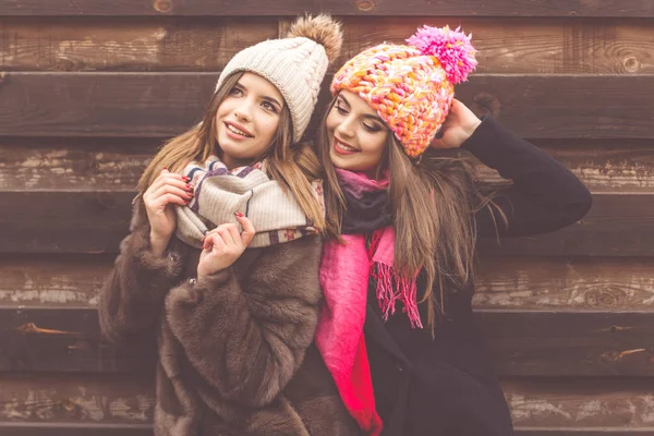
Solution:
{"label": "long light-brown hair of the woman in the white beanie", "polygon": [[[157,179],[162,168],[179,173],[191,161],[204,162],[210,155],[222,154],[216,138],[216,112],[242,75],[243,72],[238,72],[226,77],[207,105],[202,123],[168,141],[159,149],[138,181],[137,191],[141,195]],[[314,226],[324,230],[323,209],[311,185],[320,175],[320,165],[307,144],[292,143],[291,120],[288,105],[284,105],[272,143],[255,161],[266,159],[268,174],[294,196]]]}

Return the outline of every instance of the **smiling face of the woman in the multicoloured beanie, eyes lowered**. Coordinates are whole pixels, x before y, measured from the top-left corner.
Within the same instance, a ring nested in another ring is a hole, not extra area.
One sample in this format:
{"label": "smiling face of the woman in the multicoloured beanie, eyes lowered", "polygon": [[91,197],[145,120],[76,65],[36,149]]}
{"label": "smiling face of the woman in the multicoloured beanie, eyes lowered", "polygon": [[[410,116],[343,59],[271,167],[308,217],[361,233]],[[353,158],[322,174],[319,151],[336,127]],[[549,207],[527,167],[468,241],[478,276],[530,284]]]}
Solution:
{"label": "smiling face of the woman in the multicoloured beanie, eyes lowered", "polygon": [[337,168],[376,173],[389,135],[386,123],[366,100],[341,90],[326,120],[329,156]]}

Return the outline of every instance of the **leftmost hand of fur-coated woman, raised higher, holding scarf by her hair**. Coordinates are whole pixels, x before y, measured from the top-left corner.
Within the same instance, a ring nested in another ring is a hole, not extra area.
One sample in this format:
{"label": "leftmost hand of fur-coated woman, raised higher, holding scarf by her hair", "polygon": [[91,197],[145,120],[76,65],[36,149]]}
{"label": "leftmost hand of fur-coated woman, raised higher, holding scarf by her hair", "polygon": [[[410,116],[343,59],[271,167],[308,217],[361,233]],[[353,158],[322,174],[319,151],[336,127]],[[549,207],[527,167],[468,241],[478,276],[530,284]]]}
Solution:
{"label": "leftmost hand of fur-coated woman, raised higher, holding scarf by her hair", "polygon": [[193,198],[193,186],[189,178],[166,168],[143,194],[147,220],[150,225],[150,246],[156,256],[161,256],[177,226],[173,205],[184,206]]}

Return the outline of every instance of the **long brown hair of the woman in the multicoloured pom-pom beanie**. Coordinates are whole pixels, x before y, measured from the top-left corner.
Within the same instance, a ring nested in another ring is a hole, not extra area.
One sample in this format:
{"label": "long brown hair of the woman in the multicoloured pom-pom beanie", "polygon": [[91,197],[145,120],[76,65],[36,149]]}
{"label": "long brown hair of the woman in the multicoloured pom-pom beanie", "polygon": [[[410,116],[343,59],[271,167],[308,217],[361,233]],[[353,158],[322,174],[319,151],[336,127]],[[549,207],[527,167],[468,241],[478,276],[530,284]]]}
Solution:
{"label": "long brown hair of the woman in the multicoloured pom-pom beanie", "polygon": [[[335,104],[336,98],[329,110]],[[318,131],[316,153],[325,171],[327,232],[338,238],[347,210],[329,155],[329,110]],[[428,148],[420,161],[413,160],[389,130],[380,170],[386,168],[396,233],[393,267],[407,278],[424,272],[425,289],[420,303],[427,304],[427,325],[434,334],[436,320],[444,313],[444,292],[472,279],[474,213],[491,207],[493,214],[499,215],[498,223],[506,217],[494,207],[492,191],[484,193],[476,182],[472,159],[459,149]]]}

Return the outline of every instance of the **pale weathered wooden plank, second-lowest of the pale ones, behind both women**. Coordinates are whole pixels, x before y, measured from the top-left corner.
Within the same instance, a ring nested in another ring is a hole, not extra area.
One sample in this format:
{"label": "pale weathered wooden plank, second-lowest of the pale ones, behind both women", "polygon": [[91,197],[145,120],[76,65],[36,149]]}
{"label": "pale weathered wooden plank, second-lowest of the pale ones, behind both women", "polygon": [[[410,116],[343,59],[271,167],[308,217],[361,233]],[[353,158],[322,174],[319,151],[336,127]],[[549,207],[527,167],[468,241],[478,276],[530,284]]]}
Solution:
{"label": "pale weathered wooden plank, second-lowest of the pale ones, behind both women", "polygon": [[[0,305],[95,306],[113,255],[4,255]],[[477,310],[654,312],[654,259],[484,257]]]}

